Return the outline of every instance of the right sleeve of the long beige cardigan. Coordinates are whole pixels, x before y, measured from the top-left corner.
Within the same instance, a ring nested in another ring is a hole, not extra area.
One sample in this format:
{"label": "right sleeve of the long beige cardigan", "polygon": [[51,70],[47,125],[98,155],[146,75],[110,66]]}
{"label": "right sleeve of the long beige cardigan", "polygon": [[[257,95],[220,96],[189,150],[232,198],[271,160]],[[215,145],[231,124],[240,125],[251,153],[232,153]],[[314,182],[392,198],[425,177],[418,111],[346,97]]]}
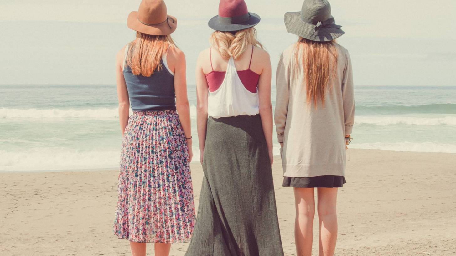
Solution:
{"label": "right sleeve of the long beige cardigan", "polygon": [[342,80],[342,102],[344,113],[345,134],[351,134],[355,120],[355,99],[353,90],[352,61],[348,52],[345,53],[347,61]]}

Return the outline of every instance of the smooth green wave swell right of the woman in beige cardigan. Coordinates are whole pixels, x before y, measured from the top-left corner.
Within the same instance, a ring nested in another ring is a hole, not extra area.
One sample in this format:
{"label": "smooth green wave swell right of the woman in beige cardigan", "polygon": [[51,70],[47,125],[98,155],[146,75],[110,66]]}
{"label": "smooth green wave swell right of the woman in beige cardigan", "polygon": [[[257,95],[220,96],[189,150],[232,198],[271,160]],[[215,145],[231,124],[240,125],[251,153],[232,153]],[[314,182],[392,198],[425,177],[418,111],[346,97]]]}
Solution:
{"label": "smooth green wave swell right of the woman in beige cardigan", "polygon": [[356,106],[358,114],[410,114],[410,113],[441,113],[456,114],[455,103],[438,103],[425,105],[392,105],[392,106]]}

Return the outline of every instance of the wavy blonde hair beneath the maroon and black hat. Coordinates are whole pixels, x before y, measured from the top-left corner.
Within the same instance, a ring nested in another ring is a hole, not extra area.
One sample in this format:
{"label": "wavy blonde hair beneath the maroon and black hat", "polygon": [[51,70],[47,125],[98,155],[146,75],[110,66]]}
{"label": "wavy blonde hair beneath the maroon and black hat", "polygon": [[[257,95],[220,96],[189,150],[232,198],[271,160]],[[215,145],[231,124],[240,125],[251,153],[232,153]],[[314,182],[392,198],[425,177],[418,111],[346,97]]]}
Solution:
{"label": "wavy blonde hair beneath the maroon and black hat", "polygon": [[237,60],[250,44],[263,48],[257,40],[256,30],[253,27],[237,31],[234,35],[231,32],[214,31],[210,42],[225,60],[230,56]]}

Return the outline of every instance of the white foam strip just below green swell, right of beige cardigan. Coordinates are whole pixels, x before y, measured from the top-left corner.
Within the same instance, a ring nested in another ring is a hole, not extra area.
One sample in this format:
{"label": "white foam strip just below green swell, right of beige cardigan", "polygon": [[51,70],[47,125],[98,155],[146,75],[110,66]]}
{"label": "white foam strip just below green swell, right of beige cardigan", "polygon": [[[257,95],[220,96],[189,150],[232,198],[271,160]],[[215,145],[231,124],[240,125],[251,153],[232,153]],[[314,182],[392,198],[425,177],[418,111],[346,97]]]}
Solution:
{"label": "white foam strip just below green swell, right of beige cardigan", "polygon": [[355,125],[356,124],[374,124],[374,125],[379,125],[379,126],[397,125],[397,124],[422,125],[422,126],[436,126],[436,125],[456,126],[456,116],[440,117],[440,118],[357,116],[355,118]]}

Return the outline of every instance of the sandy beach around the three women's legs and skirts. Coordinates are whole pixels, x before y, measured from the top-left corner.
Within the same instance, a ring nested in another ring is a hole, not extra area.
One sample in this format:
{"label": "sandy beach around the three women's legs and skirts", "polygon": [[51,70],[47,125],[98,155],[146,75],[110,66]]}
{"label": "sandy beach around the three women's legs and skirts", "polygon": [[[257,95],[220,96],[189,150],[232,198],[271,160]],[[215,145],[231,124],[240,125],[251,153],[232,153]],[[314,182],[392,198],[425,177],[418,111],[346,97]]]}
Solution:
{"label": "sandy beach around the three women's legs and skirts", "polygon": [[[295,255],[294,200],[273,166],[286,256]],[[112,235],[117,170],[0,173],[0,255],[130,255]],[[192,164],[196,204],[202,169]],[[456,255],[456,154],[352,149],[339,190],[337,256]],[[317,255],[318,222],[314,224]],[[188,244],[171,247],[183,256]],[[149,253],[153,255],[153,246]]]}

